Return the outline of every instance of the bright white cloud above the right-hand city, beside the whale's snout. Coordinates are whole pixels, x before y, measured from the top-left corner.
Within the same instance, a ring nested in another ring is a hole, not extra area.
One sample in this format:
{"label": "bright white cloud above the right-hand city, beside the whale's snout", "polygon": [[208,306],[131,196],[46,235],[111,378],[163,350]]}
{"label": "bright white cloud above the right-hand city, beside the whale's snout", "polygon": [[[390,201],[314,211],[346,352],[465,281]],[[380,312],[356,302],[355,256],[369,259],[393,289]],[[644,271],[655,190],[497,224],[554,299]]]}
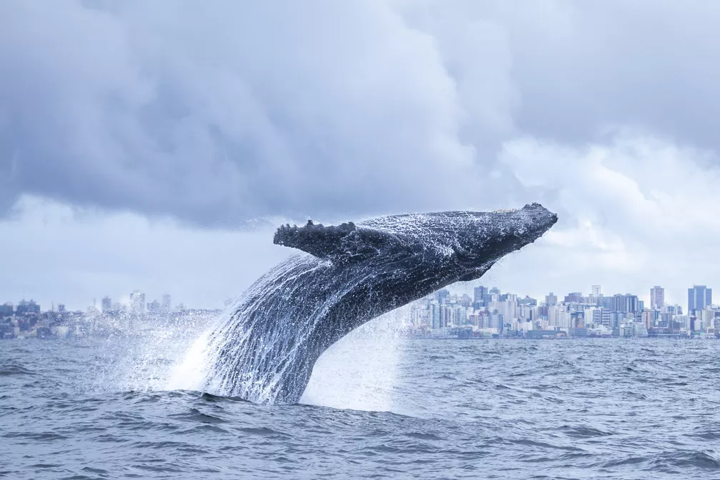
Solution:
{"label": "bright white cloud above the right-hand city, beside the whale's snout", "polygon": [[513,268],[531,275],[513,281],[536,294],[543,285],[587,293],[599,283],[613,289],[607,294],[641,297],[660,284],[685,305],[689,286],[712,284],[720,271],[720,167],[706,167],[713,157],[632,132],[579,148],[507,142],[502,161],[528,189],[544,190],[560,218],[535,254],[517,259]]}

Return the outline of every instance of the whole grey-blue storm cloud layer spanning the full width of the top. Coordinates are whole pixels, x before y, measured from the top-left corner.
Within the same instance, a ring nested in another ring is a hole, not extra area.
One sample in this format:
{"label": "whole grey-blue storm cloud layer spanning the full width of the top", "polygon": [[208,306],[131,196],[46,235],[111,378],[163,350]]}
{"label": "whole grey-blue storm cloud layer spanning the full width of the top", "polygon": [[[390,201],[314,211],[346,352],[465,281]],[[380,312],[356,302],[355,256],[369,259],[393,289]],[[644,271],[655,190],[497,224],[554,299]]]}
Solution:
{"label": "whole grey-blue storm cloud layer spanning the full width of the top", "polygon": [[495,161],[518,131],[636,124],[714,147],[718,9],[4,1],[0,207],[225,226],[495,207],[527,196]]}

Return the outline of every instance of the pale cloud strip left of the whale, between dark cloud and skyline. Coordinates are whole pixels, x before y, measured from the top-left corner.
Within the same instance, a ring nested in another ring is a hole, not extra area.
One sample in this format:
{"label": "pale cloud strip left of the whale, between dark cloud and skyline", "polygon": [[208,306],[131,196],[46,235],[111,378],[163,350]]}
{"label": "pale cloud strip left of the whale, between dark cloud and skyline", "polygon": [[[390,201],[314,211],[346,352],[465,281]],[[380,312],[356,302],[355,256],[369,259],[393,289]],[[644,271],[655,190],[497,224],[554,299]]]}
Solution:
{"label": "pale cloud strip left of the whale, between dark cloud and skyline", "polygon": [[174,305],[220,308],[271,266],[296,253],[273,245],[274,230],[203,230],[173,219],[107,214],[24,196],[0,221],[0,304],[35,299],[85,309],[103,296],[128,303],[172,295]]}

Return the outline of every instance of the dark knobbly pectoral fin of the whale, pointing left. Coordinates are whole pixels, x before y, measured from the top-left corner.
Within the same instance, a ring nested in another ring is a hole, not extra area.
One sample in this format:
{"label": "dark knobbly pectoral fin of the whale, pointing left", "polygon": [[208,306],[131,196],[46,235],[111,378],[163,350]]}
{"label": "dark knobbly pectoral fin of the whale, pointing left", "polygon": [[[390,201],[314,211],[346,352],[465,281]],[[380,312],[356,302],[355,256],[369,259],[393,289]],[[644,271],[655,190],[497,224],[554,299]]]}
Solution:
{"label": "dark knobbly pectoral fin of the whale, pointing left", "polygon": [[376,255],[391,243],[395,235],[380,230],[358,228],[353,222],[325,227],[312,220],[305,227],[283,225],[275,232],[273,243],[297,248],[318,258],[331,261],[353,261]]}

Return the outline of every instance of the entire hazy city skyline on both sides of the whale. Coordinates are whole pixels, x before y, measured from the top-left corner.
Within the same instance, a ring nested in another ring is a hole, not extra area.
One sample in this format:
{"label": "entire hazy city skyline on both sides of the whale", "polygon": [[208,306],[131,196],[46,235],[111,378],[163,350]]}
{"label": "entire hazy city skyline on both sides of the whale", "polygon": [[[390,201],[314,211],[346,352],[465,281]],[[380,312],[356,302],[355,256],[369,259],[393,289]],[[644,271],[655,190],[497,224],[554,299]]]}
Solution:
{"label": "entire hazy city skyline on both sides of the whale", "polygon": [[[474,286],[472,296],[445,288],[411,302],[398,327],[420,338],[720,338],[720,307],[708,286],[688,289],[685,310],[665,301],[662,286],[652,286],[650,297],[647,305],[636,294],[603,294],[599,284],[587,296],[549,292],[544,302],[497,286]],[[63,304],[56,311],[53,304],[42,312],[32,299],[1,304],[0,339],[138,335],[167,322],[198,327],[222,312],[172,308],[170,294],[163,294],[162,303],[145,300],[143,291],[134,290],[129,304],[104,296],[99,309],[94,302],[86,311],[69,311]]]}

